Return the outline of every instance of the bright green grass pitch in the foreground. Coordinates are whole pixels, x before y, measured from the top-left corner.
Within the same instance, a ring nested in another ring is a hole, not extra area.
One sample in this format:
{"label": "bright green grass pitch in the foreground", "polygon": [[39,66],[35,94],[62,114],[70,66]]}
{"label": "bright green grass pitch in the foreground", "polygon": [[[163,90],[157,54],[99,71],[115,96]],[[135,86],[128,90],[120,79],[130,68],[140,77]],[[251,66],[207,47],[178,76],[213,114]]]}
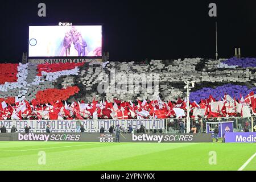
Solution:
{"label": "bright green grass pitch in the foreground", "polygon": [[[0,142],[0,170],[237,171],[255,152],[255,143]],[[256,170],[256,156],[243,170]]]}

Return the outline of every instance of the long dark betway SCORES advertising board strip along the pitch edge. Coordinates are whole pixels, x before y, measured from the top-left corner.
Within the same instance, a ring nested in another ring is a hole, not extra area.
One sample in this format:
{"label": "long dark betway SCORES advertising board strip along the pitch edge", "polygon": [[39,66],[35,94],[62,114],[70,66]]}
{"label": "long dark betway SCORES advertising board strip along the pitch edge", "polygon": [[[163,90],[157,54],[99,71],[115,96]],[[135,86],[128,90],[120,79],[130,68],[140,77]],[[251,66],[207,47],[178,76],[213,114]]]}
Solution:
{"label": "long dark betway SCORES advertising board strip along the pitch edge", "polygon": [[[120,142],[192,143],[212,142],[211,134],[120,134]],[[0,134],[0,141],[115,142],[114,134],[99,133],[15,133]]]}

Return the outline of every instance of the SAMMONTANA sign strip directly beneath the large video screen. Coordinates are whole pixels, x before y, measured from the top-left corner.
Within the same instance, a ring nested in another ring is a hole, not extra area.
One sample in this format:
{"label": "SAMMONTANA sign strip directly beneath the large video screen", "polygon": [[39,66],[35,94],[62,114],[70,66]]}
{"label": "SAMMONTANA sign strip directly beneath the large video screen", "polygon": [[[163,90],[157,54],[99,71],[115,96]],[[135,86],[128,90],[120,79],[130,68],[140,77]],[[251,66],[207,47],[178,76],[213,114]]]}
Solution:
{"label": "SAMMONTANA sign strip directly beneath the large video screen", "polygon": [[102,59],[29,59],[28,63],[34,64],[57,64],[57,63],[87,63],[102,62]]}

